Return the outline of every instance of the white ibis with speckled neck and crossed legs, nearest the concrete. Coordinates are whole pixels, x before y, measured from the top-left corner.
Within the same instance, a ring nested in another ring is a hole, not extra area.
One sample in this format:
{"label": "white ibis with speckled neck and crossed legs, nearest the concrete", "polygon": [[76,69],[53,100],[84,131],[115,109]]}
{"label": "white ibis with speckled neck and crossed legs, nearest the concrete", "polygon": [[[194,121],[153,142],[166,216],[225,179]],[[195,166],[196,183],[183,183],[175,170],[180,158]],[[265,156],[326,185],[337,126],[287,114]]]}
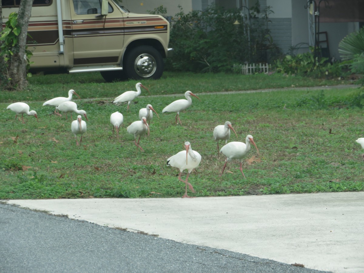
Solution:
{"label": "white ibis with speckled neck and crossed legs, nearest the concrete", "polygon": [[[170,158],[167,159],[167,165],[170,165],[172,167],[175,167],[177,169],[179,169],[179,174],[178,174],[178,180],[182,181],[183,183],[186,184],[186,190],[185,190],[185,195],[182,196],[182,198],[191,198],[190,196],[187,195],[187,186],[190,188],[190,190],[194,193],[195,190],[193,188],[193,186],[188,182],[188,177],[191,173],[191,171],[195,168],[198,167],[198,165],[201,162],[201,155],[199,153],[197,153],[197,151],[193,151],[191,148],[191,143],[186,141],[185,142],[185,148],[186,151],[180,151],[175,155],[172,155]],[[187,169],[187,176],[186,176],[186,180],[183,180],[181,178],[182,172]]]}

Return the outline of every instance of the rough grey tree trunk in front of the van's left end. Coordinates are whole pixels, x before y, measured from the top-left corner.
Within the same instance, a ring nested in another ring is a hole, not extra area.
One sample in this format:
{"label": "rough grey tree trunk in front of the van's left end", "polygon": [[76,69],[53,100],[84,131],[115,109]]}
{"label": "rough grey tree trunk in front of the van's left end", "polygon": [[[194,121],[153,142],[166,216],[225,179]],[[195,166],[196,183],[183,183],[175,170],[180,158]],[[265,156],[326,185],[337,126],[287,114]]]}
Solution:
{"label": "rough grey tree trunk in front of the van's left end", "polygon": [[21,0],[19,13],[18,13],[18,24],[20,25],[20,34],[18,37],[17,50],[14,55],[9,59],[8,73],[10,83],[9,87],[16,90],[23,90],[27,87],[27,58],[25,55],[25,49],[27,44],[27,33],[29,19],[31,16],[33,0]]}

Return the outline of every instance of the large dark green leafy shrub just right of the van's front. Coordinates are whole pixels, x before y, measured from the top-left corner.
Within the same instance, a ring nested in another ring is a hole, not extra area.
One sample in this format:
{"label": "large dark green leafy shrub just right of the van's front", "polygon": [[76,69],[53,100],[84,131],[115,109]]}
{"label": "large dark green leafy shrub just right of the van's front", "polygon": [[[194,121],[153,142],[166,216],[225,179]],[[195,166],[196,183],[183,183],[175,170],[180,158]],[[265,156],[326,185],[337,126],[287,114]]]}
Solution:
{"label": "large dark green leafy shrub just right of the van's front", "polygon": [[[268,7],[261,18],[244,17],[238,8],[225,10],[209,6],[205,11],[180,11],[171,21],[170,46],[174,56],[166,68],[174,71],[232,72],[234,63],[265,62],[266,50],[277,48],[269,35]],[[158,7],[150,13],[163,16]],[[240,24],[235,24],[235,21]],[[249,23],[248,23],[249,22]]]}

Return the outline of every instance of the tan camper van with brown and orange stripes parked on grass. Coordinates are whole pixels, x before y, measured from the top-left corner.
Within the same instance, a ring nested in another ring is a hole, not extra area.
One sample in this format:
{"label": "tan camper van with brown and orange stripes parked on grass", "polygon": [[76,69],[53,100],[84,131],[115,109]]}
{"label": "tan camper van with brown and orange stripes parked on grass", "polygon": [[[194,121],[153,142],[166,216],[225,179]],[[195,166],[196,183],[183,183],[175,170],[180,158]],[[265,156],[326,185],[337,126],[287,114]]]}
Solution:
{"label": "tan camper van with brown and orange stripes parked on grass", "polygon": [[[1,0],[3,23],[20,0]],[[118,79],[158,79],[170,25],[159,15],[131,13],[114,0],[34,0],[29,21],[30,72],[100,71]]]}

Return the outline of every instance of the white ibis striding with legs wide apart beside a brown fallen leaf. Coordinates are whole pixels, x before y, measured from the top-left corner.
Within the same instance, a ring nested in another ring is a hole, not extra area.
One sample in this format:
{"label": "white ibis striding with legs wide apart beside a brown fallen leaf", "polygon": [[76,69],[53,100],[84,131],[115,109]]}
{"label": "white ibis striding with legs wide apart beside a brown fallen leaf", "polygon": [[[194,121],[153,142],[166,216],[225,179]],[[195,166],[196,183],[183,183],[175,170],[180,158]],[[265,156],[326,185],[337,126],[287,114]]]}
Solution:
{"label": "white ibis striding with legs wide apart beside a brown fallen leaf", "polygon": [[247,135],[245,142],[246,142],[246,144],[243,142],[232,141],[232,142],[227,143],[225,146],[223,146],[221,148],[220,153],[223,153],[223,155],[226,156],[226,162],[225,162],[224,167],[222,168],[222,172],[221,172],[220,176],[224,172],[228,161],[232,161],[233,159],[239,159],[240,171],[241,171],[242,175],[244,176],[244,178],[246,178],[243,173],[243,170],[241,168],[241,164],[242,164],[243,158],[246,157],[246,155],[248,155],[248,153],[250,151],[250,142],[252,142],[253,145],[256,147],[258,155],[259,155],[259,151],[258,151],[257,145],[255,145],[255,143],[254,143],[252,135]]}

